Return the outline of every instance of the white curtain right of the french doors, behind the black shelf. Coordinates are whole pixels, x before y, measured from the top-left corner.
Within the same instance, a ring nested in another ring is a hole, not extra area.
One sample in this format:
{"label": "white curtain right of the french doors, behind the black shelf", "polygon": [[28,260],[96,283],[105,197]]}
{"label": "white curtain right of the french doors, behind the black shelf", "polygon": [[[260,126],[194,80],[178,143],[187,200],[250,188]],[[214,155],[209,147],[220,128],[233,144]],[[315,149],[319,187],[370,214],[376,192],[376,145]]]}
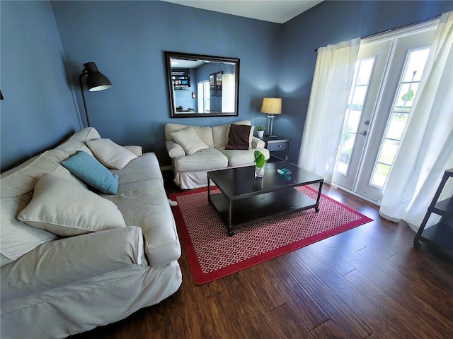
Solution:
{"label": "white curtain right of the french doors, behind the black shelf", "polygon": [[[386,185],[379,214],[418,230],[445,169],[453,167],[453,12],[440,18],[406,135]],[[451,180],[450,180],[451,181]],[[448,182],[447,182],[448,183]],[[453,185],[442,196],[452,196]],[[426,227],[437,222],[428,221]]]}

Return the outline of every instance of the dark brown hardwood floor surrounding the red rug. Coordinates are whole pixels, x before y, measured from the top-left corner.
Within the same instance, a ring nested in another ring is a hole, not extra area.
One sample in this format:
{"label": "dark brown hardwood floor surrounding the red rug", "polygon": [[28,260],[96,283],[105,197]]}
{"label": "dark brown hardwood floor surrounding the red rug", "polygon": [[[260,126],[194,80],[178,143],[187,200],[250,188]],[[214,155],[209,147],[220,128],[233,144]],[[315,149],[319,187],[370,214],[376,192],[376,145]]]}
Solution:
{"label": "dark brown hardwood floor surrounding the red rug", "polygon": [[[169,174],[169,173],[166,173]],[[180,191],[166,175],[168,194]],[[82,338],[453,338],[453,263],[405,222],[324,185],[374,221],[173,296]]]}

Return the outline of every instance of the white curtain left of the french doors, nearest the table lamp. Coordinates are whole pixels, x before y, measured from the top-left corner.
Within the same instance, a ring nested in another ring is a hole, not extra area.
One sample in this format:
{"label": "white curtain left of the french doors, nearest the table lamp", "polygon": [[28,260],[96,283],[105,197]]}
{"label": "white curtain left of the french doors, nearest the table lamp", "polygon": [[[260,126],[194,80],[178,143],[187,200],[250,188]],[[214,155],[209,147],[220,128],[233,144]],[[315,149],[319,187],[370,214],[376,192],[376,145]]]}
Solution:
{"label": "white curtain left of the french doors, nearest the table lamp", "polygon": [[331,182],[360,38],[318,49],[299,167]]}

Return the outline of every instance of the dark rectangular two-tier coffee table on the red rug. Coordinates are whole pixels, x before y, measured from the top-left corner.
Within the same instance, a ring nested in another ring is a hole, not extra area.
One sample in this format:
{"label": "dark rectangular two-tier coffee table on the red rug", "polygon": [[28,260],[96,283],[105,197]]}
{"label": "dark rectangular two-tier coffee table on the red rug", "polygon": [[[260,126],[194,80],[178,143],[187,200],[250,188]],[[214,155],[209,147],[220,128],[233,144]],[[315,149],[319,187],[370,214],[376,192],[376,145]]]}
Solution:
{"label": "dark rectangular two-tier coffee table on the red rug", "polygon": [[[282,168],[292,173],[282,177],[277,173]],[[229,236],[237,227],[280,215],[309,208],[319,212],[323,177],[287,161],[267,163],[263,178],[255,178],[254,173],[254,166],[207,172],[207,199],[226,221]],[[222,194],[211,194],[211,181]],[[316,201],[295,189],[316,183],[319,183]]]}

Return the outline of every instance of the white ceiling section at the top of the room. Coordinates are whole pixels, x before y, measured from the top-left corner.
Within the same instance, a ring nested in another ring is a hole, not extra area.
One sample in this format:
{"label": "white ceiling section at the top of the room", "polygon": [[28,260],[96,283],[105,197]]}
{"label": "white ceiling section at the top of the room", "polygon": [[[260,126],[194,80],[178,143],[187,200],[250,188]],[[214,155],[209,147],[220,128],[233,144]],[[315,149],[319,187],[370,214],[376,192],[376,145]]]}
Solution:
{"label": "white ceiling section at the top of the room", "polygon": [[313,0],[161,0],[246,18],[286,23],[321,3]]}

